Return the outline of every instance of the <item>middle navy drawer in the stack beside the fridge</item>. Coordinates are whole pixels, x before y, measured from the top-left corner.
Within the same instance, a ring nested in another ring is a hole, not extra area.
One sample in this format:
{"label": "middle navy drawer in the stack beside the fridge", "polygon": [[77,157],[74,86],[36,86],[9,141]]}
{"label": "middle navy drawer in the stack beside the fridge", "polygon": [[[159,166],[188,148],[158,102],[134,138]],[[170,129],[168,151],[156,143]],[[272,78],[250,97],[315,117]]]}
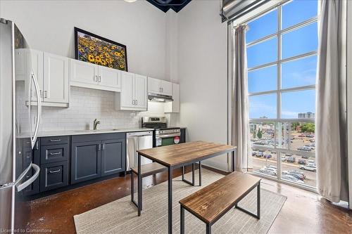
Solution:
{"label": "middle navy drawer in the stack beside the fridge", "polygon": [[40,149],[40,162],[60,162],[68,160],[68,144],[44,145]]}

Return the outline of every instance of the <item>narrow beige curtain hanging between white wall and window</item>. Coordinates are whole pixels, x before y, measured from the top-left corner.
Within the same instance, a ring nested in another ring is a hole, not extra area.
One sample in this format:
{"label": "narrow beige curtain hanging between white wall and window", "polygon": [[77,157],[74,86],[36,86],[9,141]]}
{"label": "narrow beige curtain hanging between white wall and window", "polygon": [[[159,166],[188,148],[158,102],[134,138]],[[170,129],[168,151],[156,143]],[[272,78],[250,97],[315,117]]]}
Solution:
{"label": "narrow beige curtain hanging between white wall and window", "polygon": [[235,169],[247,168],[249,153],[249,102],[247,87],[246,25],[229,26],[232,34],[232,145],[237,146]]}

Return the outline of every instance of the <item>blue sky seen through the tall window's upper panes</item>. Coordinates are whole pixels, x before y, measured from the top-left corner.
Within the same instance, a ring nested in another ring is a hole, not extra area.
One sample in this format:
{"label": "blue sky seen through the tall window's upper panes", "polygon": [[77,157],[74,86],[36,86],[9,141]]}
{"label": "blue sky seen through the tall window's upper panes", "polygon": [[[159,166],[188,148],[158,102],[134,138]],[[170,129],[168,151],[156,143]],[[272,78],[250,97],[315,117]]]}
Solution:
{"label": "blue sky seen through the tall window's upper panes", "polygon": [[[317,15],[316,0],[294,0],[282,6],[282,30]],[[256,41],[277,32],[277,10],[270,11],[249,22],[246,43]],[[277,60],[277,37],[247,48],[247,66],[256,67]],[[282,59],[299,56],[318,49],[318,25],[316,22],[298,30],[282,34]],[[292,60],[281,65],[282,89],[315,84],[317,56]],[[249,93],[277,90],[277,65],[249,71]],[[284,119],[298,117],[298,112],[315,112],[315,91],[303,90],[281,94]],[[251,119],[277,118],[277,94],[249,97]]]}

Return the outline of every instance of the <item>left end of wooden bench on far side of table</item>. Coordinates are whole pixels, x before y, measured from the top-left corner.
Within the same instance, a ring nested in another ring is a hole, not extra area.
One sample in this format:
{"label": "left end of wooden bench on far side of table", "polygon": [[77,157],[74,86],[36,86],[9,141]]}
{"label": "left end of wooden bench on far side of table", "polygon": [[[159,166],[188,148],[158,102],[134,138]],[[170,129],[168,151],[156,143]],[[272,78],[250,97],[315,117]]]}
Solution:
{"label": "left end of wooden bench on far side of table", "polygon": [[[158,164],[158,162],[152,162],[149,164],[141,165],[142,178],[146,176],[151,176],[153,174],[157,174],[159,172],[166,171],[168,168],[164,167],[162,164]],[[138,207],[137,202],[134,201],[134,174],[138,175],[138,167],[131,168],[131,202]],[[139,191],[138,191],[139,193]],[[142,199],[141,199],[142,200]],[[142,210],[142,202],[141,202],[141,210]]]}

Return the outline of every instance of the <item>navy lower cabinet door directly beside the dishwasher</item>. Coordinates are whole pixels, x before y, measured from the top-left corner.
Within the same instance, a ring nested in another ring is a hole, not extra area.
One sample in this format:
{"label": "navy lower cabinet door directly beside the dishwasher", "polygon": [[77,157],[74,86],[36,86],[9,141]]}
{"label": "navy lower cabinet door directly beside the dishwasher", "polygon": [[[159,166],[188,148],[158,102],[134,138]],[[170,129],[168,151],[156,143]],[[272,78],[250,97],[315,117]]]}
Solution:
{"label": "navy lower cabinet door directly beside the dishwasher", "polygon": [[101,144],[101,176],[125,171],[125,139],[102,141]]}

